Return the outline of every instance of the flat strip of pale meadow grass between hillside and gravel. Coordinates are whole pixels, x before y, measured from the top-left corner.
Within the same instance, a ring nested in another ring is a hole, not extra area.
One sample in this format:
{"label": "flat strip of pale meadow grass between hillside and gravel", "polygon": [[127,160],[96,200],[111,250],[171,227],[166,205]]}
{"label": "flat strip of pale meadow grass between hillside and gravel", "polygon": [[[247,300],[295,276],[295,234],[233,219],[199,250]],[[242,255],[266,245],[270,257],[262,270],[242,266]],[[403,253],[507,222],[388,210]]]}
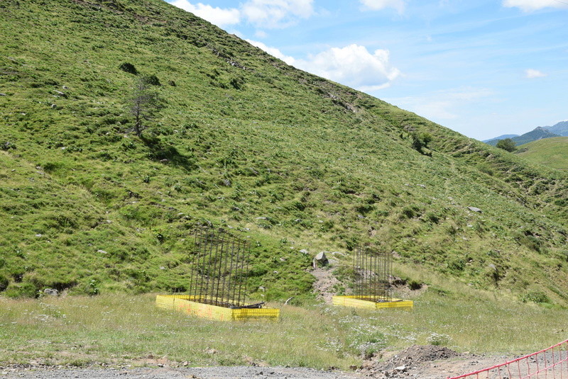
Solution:
{"label": "flat strip of pale meadow grass between hillside and gravel", "polygon": [[[412,311],[305,302],[278,322],[216,322],[159,310],[153,295],[0,298],[0,364],[171,366],[268,364],[348,368],[378,351],[438,344],[471,353],[528,353],[564,337],[567,310],[523,304],[452,282]],[[530,322],[527,322],[530,320]]]}

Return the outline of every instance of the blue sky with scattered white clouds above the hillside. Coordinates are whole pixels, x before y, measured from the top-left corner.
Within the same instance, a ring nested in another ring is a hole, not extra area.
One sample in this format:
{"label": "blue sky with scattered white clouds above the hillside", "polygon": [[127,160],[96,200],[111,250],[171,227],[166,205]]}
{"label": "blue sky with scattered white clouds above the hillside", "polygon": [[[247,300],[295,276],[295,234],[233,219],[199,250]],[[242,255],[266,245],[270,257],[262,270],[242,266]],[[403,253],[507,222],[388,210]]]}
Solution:
{"label": "blue sky with scattered white clouds above the hillside", "polygon": [[568,0],[168,0],[479,140],[568,119]]}

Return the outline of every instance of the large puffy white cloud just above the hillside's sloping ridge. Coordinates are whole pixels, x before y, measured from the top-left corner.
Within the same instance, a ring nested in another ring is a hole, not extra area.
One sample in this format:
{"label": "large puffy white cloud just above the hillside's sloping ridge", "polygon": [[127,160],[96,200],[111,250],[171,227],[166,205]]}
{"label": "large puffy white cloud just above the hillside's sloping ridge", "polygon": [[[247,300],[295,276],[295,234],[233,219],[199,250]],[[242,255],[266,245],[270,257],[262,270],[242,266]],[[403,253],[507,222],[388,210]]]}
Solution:
{"label": "large puffy white cloud just above the hillside's sloping ridge", "polygon": [[385,88],[400,76],[400,71],[391,65],[388,50],[371,54],[359,45],[332,47],[308,60],[296,60],[295,67],[361,91]]}

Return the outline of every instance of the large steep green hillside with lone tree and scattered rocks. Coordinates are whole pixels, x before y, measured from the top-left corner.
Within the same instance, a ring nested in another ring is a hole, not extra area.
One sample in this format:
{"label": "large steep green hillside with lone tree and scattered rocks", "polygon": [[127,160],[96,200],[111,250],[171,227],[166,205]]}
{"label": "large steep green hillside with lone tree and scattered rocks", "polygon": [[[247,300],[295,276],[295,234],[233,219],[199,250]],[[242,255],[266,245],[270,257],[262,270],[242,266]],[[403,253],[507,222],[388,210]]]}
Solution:
{"label": "large steep green hillside with lone tree and scattered rocks", "polygon": [[[309,293],[300,249],[374,242],[409,278],[425,266],[568,300],[558,171],[294,69],[161,0],[4,0],[0,20],[6,295],[185,290],[190,231],[213,225],[251,240],[256,297]],[[164,107],[138,137],[129,92],[148,76]]]}

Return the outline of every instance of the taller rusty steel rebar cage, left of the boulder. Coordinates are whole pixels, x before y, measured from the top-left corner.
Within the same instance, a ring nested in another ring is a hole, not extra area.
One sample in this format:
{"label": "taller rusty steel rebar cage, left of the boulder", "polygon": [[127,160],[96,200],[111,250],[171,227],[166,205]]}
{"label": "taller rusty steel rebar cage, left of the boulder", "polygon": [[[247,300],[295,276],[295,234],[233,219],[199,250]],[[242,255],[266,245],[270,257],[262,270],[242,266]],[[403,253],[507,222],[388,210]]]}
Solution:
{"label": "taller rusty steel rebar cage, left of the boulder", "polygon": [[224,230],[195,230],[195,243],[190,251],[192,299],[219,307],[251,307],[245,304],[250,251],[249,242]]}

